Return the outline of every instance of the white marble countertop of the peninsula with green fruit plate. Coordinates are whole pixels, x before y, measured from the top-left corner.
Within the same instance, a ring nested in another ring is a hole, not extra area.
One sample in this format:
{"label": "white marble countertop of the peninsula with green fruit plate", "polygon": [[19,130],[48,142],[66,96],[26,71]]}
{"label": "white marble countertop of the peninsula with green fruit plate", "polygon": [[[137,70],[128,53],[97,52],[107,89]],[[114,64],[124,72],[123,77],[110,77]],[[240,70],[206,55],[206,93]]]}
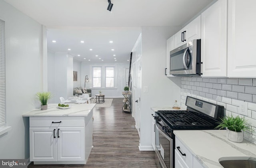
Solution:
{"label": "white marble countertop of the peninsula with green fruit plate", "polygon": [[86,117],[92,111],[95,103],[69,104],[70,109],[60,109],[58,104],[48,104],[47,110],[34,109],[24,113],[23,117]]}

